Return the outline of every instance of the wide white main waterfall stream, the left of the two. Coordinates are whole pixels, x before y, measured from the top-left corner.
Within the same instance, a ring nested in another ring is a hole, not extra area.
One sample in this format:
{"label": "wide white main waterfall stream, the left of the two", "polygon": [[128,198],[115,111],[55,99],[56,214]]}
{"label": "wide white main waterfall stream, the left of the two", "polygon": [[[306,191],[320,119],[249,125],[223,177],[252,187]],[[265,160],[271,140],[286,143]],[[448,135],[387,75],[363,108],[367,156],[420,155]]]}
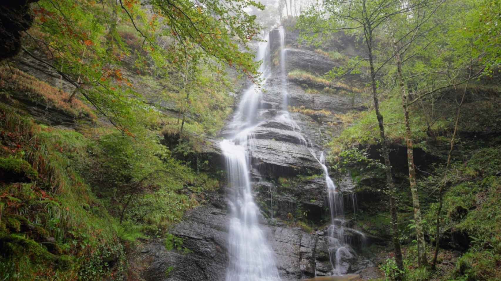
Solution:
{"label": "wide white main waterfall stream, the left of the two", "polygon": [[[269,36],[269,35],[268,35]],[[269,37],[265,38],[269,41]],[[263,60],[262,79],[270,76],[270,45],[260,43],[257,59]],[[250,156],[253,154],[253,129],[257,124],[260,89],[250,85],[243,93],[233,121],[232,137],[221,141],[231,186],[229,207],[229,265],[226,281],[280,280],[273,250],[259,226],[259,208],[254,202],[250,180]]]}

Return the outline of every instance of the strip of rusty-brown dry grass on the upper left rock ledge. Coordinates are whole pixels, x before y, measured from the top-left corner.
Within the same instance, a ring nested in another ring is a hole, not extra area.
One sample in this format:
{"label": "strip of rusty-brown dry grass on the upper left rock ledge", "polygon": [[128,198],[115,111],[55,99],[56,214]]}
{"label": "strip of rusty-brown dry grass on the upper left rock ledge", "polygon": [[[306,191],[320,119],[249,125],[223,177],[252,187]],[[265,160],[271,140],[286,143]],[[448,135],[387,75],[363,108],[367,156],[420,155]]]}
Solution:
{"label": "strip of rusty-brown dry grass on the upper left rock ledge", "polygon": [[69,101],[70,94],[67,92],[60,91],[17,68],[12,67],[11,69],[7,66],[0,67],[0,88],[29,92],[74,116],[83,114],[91,119],[97,119],[92,110],[81,100],[73,98]]}

